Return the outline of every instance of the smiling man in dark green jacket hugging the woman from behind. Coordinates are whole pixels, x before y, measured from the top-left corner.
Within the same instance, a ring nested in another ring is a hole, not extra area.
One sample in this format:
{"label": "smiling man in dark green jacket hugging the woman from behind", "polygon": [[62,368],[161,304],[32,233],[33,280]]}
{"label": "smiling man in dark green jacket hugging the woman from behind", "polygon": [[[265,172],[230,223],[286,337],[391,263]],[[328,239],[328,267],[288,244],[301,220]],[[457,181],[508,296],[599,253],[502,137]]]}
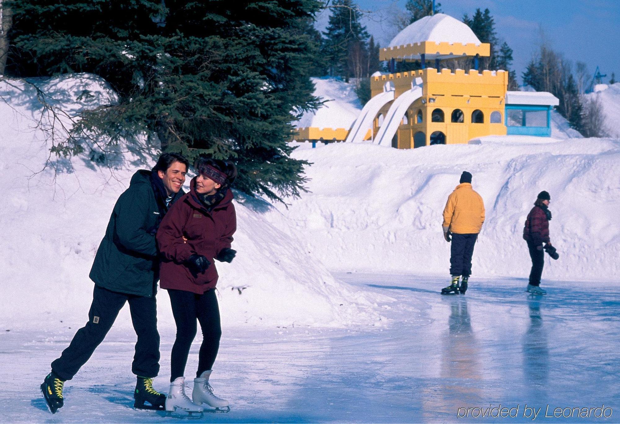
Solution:
{"label": "smiling man in dark green jacket hugging the woman from behind", "polygon": [[118,312],[129,303],[138,335],[131,371],[138,376],[134,407],[164,409],[166,395],[153,389],[159,373],[159,333],[155,294],[159,259],[155,234],[172,203],[184,195],[188,161],[164,153],[153,170],[138,170],[117,200],[91,268],[95,283],[89,321],[76,332],[41,390],[52,413],[63,406],[63,384],[78,372],[104,340]]}

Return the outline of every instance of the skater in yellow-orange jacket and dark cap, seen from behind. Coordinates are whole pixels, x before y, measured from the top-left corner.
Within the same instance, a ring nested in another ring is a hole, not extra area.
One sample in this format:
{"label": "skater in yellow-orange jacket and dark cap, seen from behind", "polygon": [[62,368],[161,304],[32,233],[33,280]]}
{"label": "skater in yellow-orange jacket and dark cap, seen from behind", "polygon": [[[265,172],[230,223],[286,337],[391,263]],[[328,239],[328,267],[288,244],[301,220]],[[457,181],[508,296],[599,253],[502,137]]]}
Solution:
{"label": "skater in yellow-orange jacket and dark cap, seen from behind", "polygon": [[[471,187],[471,174],[463,171],[459,185],[448,196],[443,210],[443,237],[452,242],[450,275],[452,281],[441,289],[441,294],[465,294],[471,275],[471,257],[474,244],[484,223],[484,202]],[[459,279],[463,276],[463,279]]]}

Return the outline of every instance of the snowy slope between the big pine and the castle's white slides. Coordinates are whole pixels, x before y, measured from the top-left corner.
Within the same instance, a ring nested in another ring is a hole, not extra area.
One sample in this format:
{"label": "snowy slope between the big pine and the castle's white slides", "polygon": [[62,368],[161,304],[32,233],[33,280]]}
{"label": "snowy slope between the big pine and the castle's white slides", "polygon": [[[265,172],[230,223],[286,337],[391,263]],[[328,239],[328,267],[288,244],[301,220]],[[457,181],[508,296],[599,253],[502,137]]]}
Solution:
{"label": "snowy slope between the big pine and the castle's white slides", "polygon": [[317,128],[349,129],[360,115],[363,105],[355,94],[355,86],[337,78],[311,78],[314,95],[325,103],[318,110],[306,112],[293,122],[295,128],[314,126]]}

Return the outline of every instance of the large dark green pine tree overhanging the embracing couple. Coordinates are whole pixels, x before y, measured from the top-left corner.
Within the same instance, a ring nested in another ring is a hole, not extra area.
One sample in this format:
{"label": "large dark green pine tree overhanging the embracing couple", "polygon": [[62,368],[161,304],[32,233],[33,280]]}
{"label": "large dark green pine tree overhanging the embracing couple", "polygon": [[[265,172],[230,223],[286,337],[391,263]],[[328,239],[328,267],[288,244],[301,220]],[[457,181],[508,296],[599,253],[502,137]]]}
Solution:
{"label": "large dark green pine tree overhanging the embracing couple", "polygon": [[[317,0],[4,0],[16,76],[87,72],[118,93],[76,131],[112,143],[156,134],[167,151],[239,167],[236,187],[272,199],[303,190],[290,157],[291,110],[316,107],[308,35]],[[76,151],[78,134],[60,148]]]}

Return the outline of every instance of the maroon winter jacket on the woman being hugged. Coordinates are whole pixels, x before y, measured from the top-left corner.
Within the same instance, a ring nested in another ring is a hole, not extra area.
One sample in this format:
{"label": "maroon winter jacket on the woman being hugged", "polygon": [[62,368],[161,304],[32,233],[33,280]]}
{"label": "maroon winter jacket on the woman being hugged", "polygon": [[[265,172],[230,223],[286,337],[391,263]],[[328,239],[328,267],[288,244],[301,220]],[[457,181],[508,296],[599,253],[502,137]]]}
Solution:
{"label": "maroon winter jacket on the woman being hugged", "polygon": [[[232,190],[211,212],[196,193],[196,179],[190,182],[190,192],[180,198],[162,219],[157,231],[157,245],[162,255],[159,286],[203,294],[218,283],[214,257],[231,247],[237,218],[232,205]],[[183,242],[183,237],[187,243]],[[184,265],[192,254],[204,255],[211,265],[194,278]]]}

